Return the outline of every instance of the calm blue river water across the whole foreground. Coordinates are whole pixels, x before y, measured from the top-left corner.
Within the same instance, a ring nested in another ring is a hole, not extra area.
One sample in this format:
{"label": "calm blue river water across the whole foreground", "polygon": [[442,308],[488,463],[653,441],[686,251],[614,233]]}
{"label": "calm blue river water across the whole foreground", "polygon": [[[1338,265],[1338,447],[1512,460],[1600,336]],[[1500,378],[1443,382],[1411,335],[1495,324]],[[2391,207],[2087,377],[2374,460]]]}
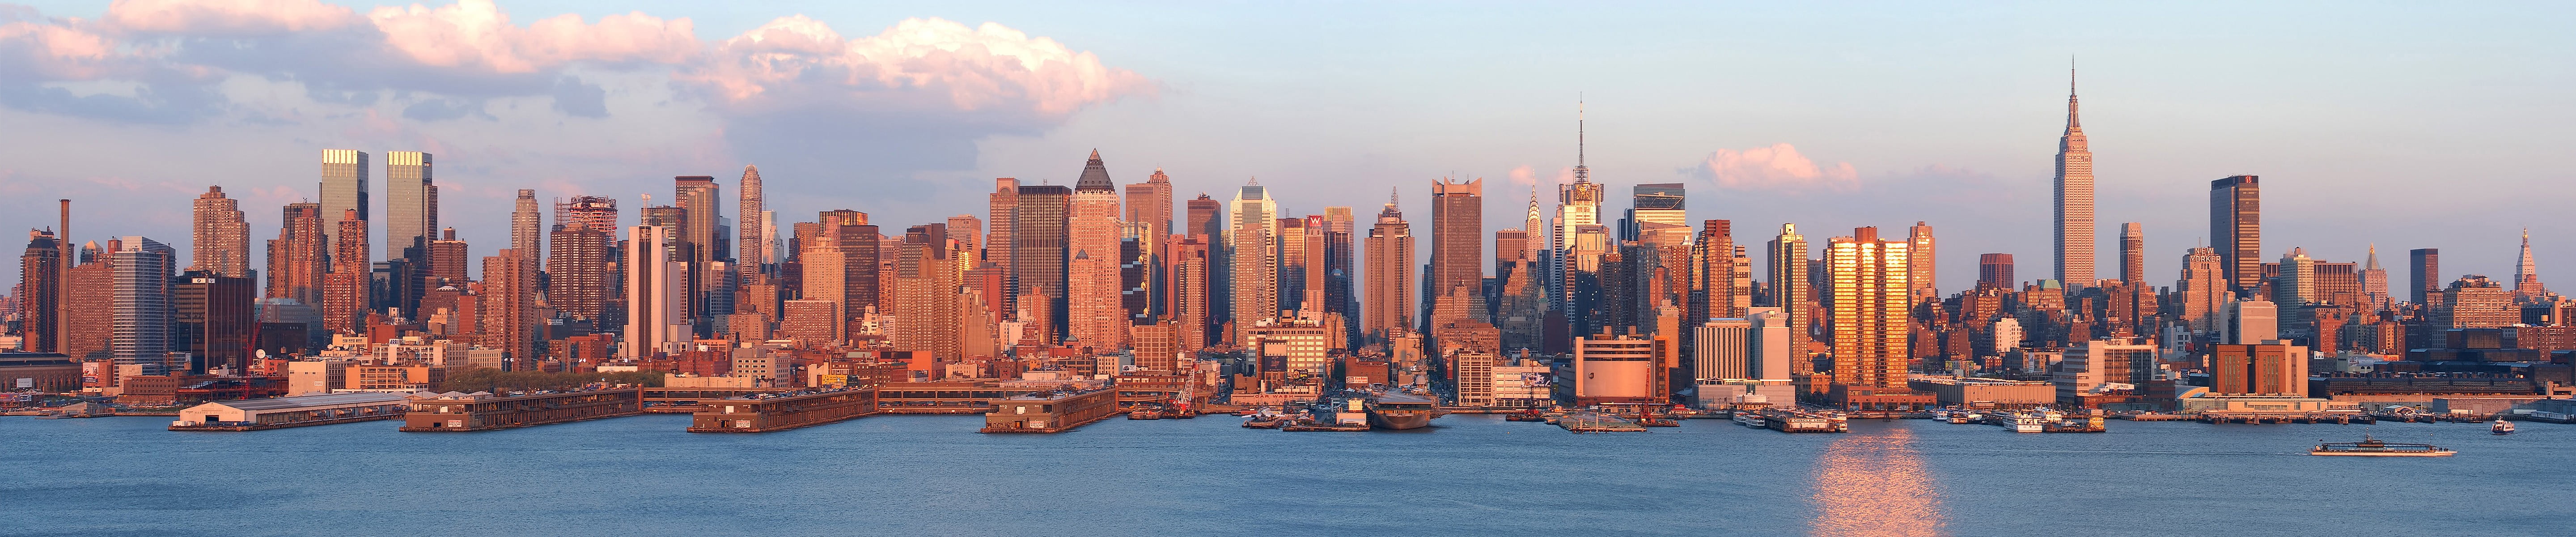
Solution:
{"label": "calm blue river water across the whole foreground", "polygon": [[175,434],[0,418],[0,534],[2576,534],[2576,426],[2383,423],[2447,460],[2308,457],[2365,426],[2110,434],[1855,421],[1649,434],[1448,416],[1285,434],[1239,418],[974,434],[878,416],[683,434],[636,416],[484,434]]}

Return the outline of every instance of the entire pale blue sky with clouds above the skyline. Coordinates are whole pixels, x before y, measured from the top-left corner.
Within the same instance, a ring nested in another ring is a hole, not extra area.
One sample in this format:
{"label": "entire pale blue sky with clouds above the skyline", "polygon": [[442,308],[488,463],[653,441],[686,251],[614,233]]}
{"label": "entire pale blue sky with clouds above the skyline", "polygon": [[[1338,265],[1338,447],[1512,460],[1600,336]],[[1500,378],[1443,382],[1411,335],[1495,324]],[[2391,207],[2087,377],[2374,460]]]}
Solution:
{"label": "entire pale blue sky with clouds above the skyline", "polygon": [[[314,199],[319,152],[428,150],[440,225],[507,245],[515,188],[613,196],[760,165],[788,222],[984,217],[992,178],[1180,199],[1249,178],[1283,214],[1486,183],[1489,230],[1584,163],[1625,209],[1685,183],[1690,219],[1759,245],[1875,225],[2050,261],[2050,173],[2076,67],[2099,183],[2172,284],[2208,243],[2208,181],[2262,176],[2264,250],[2409,248],[2442,276],[2576,266],[2576,15],[2566,3],[0,3],[0,214],[75,240],[188,248],[224,186],[252,256]],[[381,199],[381,194],[379,194]],[[379,201],[381,204],[381,201]],[[381,212],[381,207],[379,207]],[[726,207],[732,214],[732,207]],[[551,219],[551,214],[546,214]],[[551,222],[549,222],[551,225]],[[381,232],[381,225],[379,225]],[[379,248],[381,250],[381,248]],[[1759,256],[1759,248],[1754,248]],[[0,268],[15,279],[15,266]],[[1762,276],[1762,274],[1757,274]],[[1767,279],[1767,276],[1762,276]]]}

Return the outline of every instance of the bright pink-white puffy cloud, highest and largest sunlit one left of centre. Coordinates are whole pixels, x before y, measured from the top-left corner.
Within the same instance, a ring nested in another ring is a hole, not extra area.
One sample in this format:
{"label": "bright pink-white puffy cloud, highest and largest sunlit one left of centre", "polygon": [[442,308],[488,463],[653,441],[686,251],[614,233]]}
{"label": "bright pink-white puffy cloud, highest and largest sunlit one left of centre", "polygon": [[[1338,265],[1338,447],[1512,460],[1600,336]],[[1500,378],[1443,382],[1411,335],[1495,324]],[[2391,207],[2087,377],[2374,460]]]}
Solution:
{"label": "bright pink-white puffy cloud, highest and largest sunlit one left of centre", "polygon": [[[742,111],[938,101],[958,111],[1064,116],[1154,93],[1146,77],[1110,70],[1100,57],[1054,39],[940,18],[907,18],[876,36],[842,39],[822,21],[788,15],[719,41],[680,80]],[[891,98],[896,93],[920,98]]]}

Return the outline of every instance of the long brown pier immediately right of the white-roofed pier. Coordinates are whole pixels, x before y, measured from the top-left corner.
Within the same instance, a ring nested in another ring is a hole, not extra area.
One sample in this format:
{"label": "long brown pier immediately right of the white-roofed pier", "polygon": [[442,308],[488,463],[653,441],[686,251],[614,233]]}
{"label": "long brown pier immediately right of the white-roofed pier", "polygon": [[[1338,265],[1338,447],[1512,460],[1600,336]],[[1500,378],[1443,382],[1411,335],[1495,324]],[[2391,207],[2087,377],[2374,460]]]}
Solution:
{"label": "long brown pier immediately right of the white-roofed pier", "polygon": [[412,400],[402,431],[492,431],[644,413],[644,390],[592,392],[440,392]]}

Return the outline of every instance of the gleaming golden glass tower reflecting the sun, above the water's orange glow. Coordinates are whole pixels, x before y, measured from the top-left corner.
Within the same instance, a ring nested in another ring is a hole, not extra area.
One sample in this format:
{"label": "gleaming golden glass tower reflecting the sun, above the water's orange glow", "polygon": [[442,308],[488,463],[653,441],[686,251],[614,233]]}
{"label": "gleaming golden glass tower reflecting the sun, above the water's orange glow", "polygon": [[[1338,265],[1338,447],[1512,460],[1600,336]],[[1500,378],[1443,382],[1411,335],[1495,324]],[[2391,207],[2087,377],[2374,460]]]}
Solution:
{"label": "gleaming golden glass tower reflecting the sun, above the water's orange glow", "polygon": [[1860,227],[1829,243],[1826,266],[1834,281],[1834,385],[1906,390],[1909,245],[1878,240],[1878,227]]}

